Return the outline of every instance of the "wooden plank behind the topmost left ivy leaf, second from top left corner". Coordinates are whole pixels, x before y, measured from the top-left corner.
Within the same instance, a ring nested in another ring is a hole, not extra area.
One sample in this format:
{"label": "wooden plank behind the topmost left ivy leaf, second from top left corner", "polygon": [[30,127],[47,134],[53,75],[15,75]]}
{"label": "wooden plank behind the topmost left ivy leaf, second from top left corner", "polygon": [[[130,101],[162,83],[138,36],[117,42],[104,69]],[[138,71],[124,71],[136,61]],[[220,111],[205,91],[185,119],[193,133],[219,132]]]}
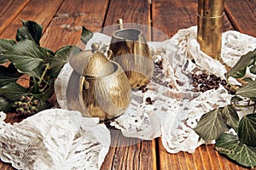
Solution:
{"label": "wooden plank behind the topmost left ivy leaf, second from top left corner", "polygon": [[[31,0],[27,3],[26,7],[22,9],[20,14],[15,17],[15,20],[8,26],[8,29],[3,31],[0,38],[15,39],[16,31],[21,26],[21,20],[36,21],[41,24],[45,30],[62,1],[63,0]],[[11,10],[11,7],[9,7],[9,10]]]}

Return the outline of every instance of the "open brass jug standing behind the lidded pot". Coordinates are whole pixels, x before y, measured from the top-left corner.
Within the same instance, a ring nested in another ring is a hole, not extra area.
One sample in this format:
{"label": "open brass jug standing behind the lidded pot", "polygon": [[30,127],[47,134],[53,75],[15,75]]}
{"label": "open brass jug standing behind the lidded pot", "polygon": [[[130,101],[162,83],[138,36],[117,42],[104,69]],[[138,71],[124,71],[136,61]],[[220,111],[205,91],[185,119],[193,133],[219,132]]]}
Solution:
{"label": "open brass jug standing behind the lidded pot", "polygon": [[123,29],[123,22],[118,20],[119,31],[111,38],[109,49],[113,60],[119,63],[128,77],[131,88],[142,88],[153,76],[154,62],[148,48],[148,42],[139,29]]}

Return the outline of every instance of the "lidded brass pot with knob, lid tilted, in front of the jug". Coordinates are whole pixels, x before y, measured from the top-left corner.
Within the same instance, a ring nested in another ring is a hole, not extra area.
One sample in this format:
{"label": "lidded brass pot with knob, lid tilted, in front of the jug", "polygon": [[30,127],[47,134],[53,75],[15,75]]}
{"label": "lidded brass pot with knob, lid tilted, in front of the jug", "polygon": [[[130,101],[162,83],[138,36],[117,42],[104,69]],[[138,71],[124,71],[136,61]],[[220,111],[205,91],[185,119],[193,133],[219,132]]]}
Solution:
{"label": "lidded brass pot with knob, lid tilted, in front of the jug", "polygon": [[131,85],[119,64],[97,51],[98,43],[91,48],[69,60],[73,72],[67,85],[67,107],[105,121],[130,105]]}

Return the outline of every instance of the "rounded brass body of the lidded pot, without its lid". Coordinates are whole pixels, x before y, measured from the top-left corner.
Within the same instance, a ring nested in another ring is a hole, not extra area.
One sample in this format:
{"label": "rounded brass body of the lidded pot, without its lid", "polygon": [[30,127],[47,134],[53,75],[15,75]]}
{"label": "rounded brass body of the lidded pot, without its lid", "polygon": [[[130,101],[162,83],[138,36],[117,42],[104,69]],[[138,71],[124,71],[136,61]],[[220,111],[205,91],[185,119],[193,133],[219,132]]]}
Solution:
{"label": "rounded brass body of the lidded pot, without its lid", "polygon": [[73,71],[67,85],[67,107],[101,121],[120,116],[131,102],[131,85],[122,68],[104,77],[84,77]]}

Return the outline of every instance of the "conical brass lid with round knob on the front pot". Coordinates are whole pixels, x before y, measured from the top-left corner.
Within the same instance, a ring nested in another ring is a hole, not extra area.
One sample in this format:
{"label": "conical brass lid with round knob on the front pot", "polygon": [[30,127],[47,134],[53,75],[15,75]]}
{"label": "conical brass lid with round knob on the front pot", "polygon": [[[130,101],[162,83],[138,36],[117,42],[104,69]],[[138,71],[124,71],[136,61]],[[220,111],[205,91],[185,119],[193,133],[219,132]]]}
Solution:
{"label": "conical brass lid with round knob on the front pot", "polygon": [[104,77],[114,71],[113,64],[104,54],[97,51],[99,43],[92,43],[91,50],[75,54],[69,59],[69,64],[81,76]]}

